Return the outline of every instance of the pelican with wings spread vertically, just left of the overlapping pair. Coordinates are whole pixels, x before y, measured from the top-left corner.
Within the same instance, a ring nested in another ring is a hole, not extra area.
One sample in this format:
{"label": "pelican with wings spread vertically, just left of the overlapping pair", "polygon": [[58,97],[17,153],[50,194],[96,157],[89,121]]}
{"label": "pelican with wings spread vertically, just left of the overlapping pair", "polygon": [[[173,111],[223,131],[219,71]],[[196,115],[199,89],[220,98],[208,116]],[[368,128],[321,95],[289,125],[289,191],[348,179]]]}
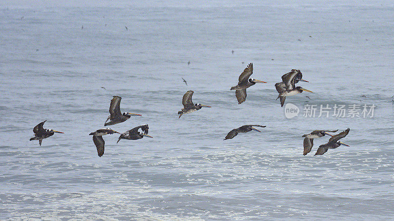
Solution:
{"label": "pelican with wings spread vertically, just left of the overlapping pair", "polygon": [[266,83],[256,79],[249,79],[253,74],[253,64],[250,63],[245,70],[241,73],[238,78],[238,84],[230,88],[230,90],[235,90],[235,97],[238,100],[238,104],[241,104],[246,100],[246,88],[255,85],[256,83]]}

